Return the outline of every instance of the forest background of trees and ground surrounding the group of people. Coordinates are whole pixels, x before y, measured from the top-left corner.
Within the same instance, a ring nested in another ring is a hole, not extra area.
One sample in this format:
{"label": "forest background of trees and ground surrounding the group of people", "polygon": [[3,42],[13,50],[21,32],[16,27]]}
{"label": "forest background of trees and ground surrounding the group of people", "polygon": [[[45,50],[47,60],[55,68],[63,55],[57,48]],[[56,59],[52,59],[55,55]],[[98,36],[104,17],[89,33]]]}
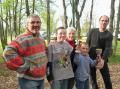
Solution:
{"label": "forest background of trees and ground surrounding the group of people", "polygon": [[[51,36],[56,33],[55,29],[60,25],[65,28],[69,26],[75,27],[77,30],[76,39],[84,39],[86,33],[91,28],[98,27],[99,16],[108,15],[110,17],[108,30],[114,36],[113,53],[109,59],[109,65],[113,79],[113,89],[119,89],[120,0],[107,0],[109,2],[102,0],[103,3],[101,7],[96,8],[97,5],[99,6],[99,4],[101,4],[97,1],[98,0],[0,0],[0,89],[17,89],[15,74],[6,69],[2,52],[8,42],[25,31],[25,20],[30,14],[38,14],[41,17],[41,31],[44,32],[42,35],[47,42],[50,41]],[[98,12],[102,10],[102,12],[97,15],[97,10]],[[103,86],[103,84],[100,86]]]}

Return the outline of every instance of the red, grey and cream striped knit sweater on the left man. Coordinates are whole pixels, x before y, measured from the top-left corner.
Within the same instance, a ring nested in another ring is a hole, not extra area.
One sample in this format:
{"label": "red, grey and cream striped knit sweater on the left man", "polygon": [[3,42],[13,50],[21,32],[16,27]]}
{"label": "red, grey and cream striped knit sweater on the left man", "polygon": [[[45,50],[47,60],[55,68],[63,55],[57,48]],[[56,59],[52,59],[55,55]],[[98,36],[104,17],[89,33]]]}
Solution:
{"label": "red, grey and cream striped knit sweater on the left man", "polygon": [[45,42],[40,37],[25,32],[6,46],[3,57],[9,69],[22,77],[41,79],[46,74],[47,55]]}

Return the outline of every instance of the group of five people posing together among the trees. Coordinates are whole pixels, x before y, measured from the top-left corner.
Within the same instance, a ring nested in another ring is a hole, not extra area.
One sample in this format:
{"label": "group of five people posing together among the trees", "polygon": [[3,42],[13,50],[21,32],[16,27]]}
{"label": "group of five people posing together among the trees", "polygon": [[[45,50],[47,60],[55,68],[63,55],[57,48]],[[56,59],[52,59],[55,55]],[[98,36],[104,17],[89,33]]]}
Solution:
{"label": "group of five people posing together among the trees", "polygon": [[[45,77],[50,89],[73,89],[74,85],[77,89],[89,89],[89,79],[93,89],[99,89],[96,66],[102,65],[98,69],[105,88],[112,89],[107,62],[113,36],[106,29],[108,23],[109,17],[101,16],[99,28],[91,29],[86,42],[80,43],[75,42],[75,28],[58,27],[55,42],[46,48],[39,34],[41,19],[38,15],[30,15],[26,31],[10,42],[3,52],[6,66],[17,72],[20,89],[44,89]],[[102,50],[99,56],[96,49]]]}

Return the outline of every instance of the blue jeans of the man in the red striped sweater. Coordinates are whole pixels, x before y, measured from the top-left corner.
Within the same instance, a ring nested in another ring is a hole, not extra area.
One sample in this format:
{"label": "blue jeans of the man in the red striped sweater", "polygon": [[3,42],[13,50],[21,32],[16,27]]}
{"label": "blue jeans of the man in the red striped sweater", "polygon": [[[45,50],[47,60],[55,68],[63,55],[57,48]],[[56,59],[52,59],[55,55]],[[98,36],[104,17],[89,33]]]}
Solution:
{"label": "blue jeans of the man in the red striped sweater", "polygon": [[44,89],[44,80],[18,78],[20,89]]}

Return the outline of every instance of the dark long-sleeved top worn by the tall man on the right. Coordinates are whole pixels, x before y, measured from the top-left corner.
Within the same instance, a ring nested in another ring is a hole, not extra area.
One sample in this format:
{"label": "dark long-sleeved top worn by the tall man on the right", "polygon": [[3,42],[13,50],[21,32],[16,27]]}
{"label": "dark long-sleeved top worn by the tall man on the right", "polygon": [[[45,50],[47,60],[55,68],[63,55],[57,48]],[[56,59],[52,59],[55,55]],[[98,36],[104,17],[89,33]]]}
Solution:
{"label": "dark long-sleeved top worn by the tall man on the right", "polygon": [[[101,35],[101,33],[103,33]],[[103,40],[103,43],[100,43],[101,37]],[[105,59],[106,61],[108,60],[108,57],[111,54],[111,49],[112,49],[112,40],[113,36],[112,34],[106,30],[105,32],[99,32],[98,28],[92,29],[87,37],[87,43],[90,47],[90,57],[92,59],[95,59],[96,57],[96,48],[101,48],[102,49],[102,58]],[[102,45],[104,45],[104,47]]]}

